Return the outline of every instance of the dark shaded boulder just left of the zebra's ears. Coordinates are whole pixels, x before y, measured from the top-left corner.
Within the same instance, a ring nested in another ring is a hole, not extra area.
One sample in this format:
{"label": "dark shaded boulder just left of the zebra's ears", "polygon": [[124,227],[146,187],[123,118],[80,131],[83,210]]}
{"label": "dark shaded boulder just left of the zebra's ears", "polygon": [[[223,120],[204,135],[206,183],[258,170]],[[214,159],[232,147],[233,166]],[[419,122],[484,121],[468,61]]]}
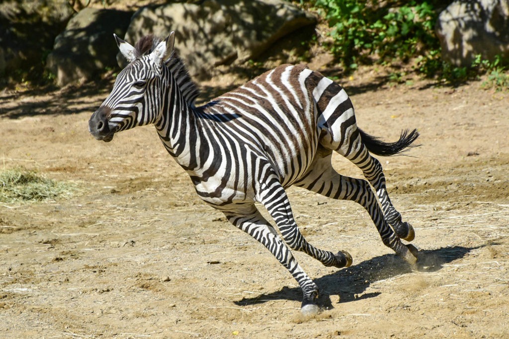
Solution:
{"label": "dark shaded boulder just left of the zebra's ears", "polygon": [[117,67],[113,34],[124,35],[131,16],[127,11],[86,8],[72,17],[46,59],[56,84],[89,80]]}

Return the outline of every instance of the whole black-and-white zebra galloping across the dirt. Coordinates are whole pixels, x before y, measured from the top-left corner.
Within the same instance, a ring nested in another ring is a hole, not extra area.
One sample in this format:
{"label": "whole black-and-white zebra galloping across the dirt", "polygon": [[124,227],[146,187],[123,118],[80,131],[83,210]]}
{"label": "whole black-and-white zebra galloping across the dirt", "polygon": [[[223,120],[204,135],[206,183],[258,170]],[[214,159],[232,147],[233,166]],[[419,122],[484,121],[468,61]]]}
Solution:
{"label": "whole black-and-white zebra galloping across the dirt", "polygon": [[[154,124],[166,150],[191,177],[196,193],[265,245],[290,271],[302,288],[303,313],[319,311],[318,288],[290,249],[338,268],[350,266],[352,257],[345,251],[317,249],[304,239],[285,192],[289,186],[359,203],[383,243],[407,262],[416,262],[416,248],[400,241],[411,241],[413,228],[392,206],[382,166],[369,153],[395,155],[411,146],[416,130],[402,132],[393,143],[362,132],[345,90],[302,65],[279,66],[196,107],[198,91],[173,52],[173,32],[164,41],[144,37],[135,47],[115,38],[129,65],[91,116],[90,133],[107,142],[117,132]],[[334,171],[332,151],[357,165],[369,182]],[[267,208],[281,236],[255,202]]]}

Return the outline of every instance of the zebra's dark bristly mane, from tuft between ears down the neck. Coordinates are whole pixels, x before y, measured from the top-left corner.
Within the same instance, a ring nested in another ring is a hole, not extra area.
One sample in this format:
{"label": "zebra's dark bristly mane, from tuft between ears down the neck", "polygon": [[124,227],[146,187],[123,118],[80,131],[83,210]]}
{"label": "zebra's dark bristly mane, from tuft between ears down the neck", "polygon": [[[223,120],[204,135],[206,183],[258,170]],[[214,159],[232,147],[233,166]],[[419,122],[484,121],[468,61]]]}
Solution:
{"label": "zebra's dark bristly mane, from tuft between ears down the neck", "polygon": [[[158,38],[152,34],[140,38],[139,41],[134,45],[135,57],[138,59],[146,54],[150,54],[161,41],[161,38]],[[192,81],[187,68],[185,67],[182,59],[177,54],[175,49],[172,51],[172,55],[164,60],[164,64],[169,69],[169,71],[172,72],[173,77],[179,85],[184,100],[189,105],[194,107],[194,101],[200,95],[200,90]]]}

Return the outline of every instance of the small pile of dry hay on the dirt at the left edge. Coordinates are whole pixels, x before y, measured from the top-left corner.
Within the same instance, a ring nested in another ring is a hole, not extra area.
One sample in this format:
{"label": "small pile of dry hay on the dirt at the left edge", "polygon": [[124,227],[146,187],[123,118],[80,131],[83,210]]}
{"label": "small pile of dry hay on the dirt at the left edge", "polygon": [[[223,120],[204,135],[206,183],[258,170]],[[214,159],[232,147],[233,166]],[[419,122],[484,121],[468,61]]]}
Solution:
{"label": "small pile of dry hay on the dirt at the left edge", "polygon": [[41,201],[68,198],[76,190],[74,183],[45,178],[23,167],[4,169],[0,172],[0,201]]}

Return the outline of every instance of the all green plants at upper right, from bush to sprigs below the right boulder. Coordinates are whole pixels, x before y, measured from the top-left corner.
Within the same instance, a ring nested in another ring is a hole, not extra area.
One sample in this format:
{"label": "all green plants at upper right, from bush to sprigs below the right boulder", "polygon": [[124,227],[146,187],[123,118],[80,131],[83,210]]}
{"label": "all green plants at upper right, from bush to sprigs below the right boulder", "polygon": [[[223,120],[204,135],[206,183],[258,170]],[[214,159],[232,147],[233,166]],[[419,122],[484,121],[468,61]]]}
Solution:
{"label": "all green plants at upper right, from bush to sprigs below the right boulder", "polygon": [[[509,60],[490,62],[478,56],[470,67],[456,67],[441,58],[434,27],[448,3],[441,0],[314,0],[330,27],[325,47],[346,71],[359,65],[409,65],[420,76],[459,83],[487,74],[485,87],[507,88]],[[402,82],[401,72],[389,81]]]}

